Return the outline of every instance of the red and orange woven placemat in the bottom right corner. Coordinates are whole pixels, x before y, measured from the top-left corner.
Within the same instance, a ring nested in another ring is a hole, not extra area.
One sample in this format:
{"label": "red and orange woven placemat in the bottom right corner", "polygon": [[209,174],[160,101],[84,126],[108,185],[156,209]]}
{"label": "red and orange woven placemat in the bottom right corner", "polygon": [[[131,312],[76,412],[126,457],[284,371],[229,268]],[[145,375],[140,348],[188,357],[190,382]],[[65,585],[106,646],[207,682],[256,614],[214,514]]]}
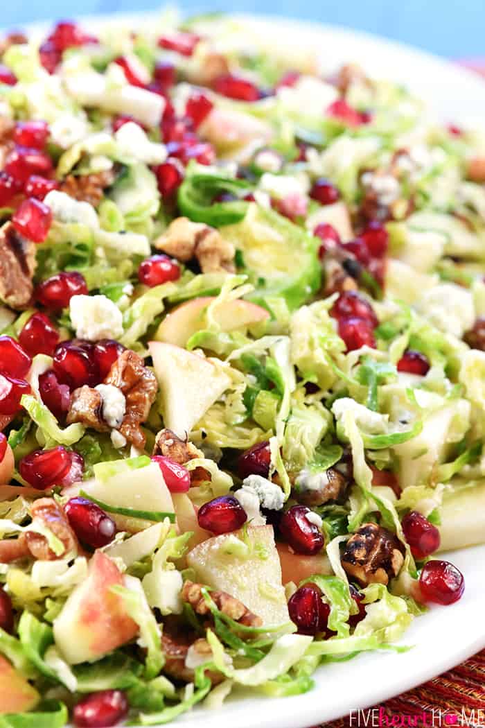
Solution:
{"label": "red and orange woven placemat in the bottom right corner", "polygon": [[325,728],[485,727],[485,650],[403,695]]}

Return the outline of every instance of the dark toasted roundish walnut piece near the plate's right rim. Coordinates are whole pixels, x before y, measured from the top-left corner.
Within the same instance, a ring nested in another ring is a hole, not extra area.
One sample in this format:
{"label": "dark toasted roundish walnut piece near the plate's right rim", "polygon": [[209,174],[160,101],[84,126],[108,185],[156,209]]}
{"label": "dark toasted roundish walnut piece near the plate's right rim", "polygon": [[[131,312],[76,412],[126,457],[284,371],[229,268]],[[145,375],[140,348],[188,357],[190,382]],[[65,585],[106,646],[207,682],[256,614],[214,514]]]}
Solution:
{"label": "dark toasted roundish walnut piece near the plate's right rim", "polygon": [[388,585],[404,563],[404,546],[376,523],[364,523],[347,542],[342,566],[359,584]]}

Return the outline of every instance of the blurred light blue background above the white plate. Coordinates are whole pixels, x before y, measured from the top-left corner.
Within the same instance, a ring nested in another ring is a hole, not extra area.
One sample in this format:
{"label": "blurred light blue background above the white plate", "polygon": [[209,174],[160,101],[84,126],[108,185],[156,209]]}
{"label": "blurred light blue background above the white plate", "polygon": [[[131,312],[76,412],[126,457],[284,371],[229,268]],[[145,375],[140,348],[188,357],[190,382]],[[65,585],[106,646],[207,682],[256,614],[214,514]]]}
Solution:
{"label": "blurred light blue background above the white plate", "polygon": [[[267,12],[337,23],[454,58],[485,56],[485,0],[179,0],[184,11]],[[95,12],[156,9],[161,0],[2,0],[0,25]]]}

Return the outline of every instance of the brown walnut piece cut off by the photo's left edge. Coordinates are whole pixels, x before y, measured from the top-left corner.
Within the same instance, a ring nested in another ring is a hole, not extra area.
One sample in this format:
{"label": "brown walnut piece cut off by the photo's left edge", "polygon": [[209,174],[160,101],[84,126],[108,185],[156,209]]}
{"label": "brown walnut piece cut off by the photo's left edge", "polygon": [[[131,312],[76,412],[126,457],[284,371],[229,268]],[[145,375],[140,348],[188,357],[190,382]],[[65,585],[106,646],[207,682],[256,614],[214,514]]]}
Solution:
{"label": "brown walnut piece cut off by the photo's left edge", "polygon": [[11,222],[0,228],[0,300],[26,309],[33,293],[36,245],[21,237]]}

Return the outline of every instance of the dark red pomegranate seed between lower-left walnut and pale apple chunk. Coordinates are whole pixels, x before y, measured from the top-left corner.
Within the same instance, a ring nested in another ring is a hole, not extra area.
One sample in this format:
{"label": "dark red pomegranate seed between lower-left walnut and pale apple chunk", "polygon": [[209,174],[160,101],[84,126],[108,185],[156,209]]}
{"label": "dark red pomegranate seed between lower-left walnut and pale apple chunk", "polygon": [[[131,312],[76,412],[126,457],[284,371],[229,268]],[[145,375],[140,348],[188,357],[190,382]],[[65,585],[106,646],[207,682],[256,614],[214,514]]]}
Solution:
{"label": "dark red pomegranate seed between lower-left walnut and pale apple chunk", "polygon": [[116,523],[95,503],[86,498],[71,498],[64,510],[71,529],[82,543],[101,548],[113,541]]}

